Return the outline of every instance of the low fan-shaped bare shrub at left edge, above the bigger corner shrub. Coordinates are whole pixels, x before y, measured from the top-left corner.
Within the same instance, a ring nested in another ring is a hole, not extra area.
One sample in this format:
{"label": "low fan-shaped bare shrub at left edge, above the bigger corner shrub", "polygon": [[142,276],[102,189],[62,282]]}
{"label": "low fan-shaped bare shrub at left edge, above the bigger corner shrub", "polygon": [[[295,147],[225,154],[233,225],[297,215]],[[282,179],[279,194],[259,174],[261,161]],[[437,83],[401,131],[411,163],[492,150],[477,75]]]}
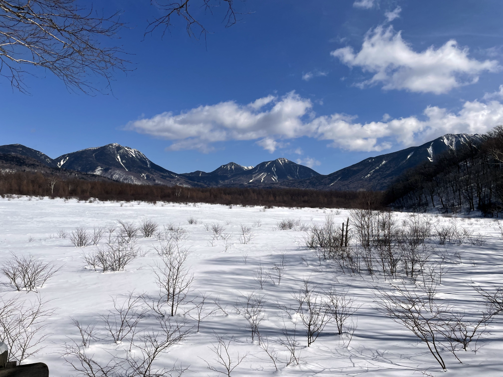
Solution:
{"label": "low fan-shaped bare shrub at left edge, above the bigger corner shrub", "polygon": [[44,263],[33,255],[18,256],[12,254],[0,269],[17,291],[37,291],[51,278],[61,267],[56,268],[52,263]]}

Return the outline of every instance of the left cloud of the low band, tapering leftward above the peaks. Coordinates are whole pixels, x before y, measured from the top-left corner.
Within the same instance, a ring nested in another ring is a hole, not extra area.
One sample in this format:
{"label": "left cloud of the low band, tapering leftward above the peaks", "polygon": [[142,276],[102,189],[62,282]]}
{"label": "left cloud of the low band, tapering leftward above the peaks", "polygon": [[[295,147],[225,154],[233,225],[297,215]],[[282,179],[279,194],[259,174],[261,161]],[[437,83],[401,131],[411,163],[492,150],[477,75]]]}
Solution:
{"label": "left cloud of the low band, tapering leftward above the peaks", "polygon": [[[264,109],[266,105],[269,105],[268,109]],[[271,140],[310,133],[301,118],[309,114],[311,107],[310,100],[290,92],[281,99],[268,96],[244,106],[228,101],[199,106],[179,115],[166,112],[129,122],[125,128],[173,140],[171,150],[209,152],[215,142],[263,139],[260,145],[272,152],[278,145]]]}

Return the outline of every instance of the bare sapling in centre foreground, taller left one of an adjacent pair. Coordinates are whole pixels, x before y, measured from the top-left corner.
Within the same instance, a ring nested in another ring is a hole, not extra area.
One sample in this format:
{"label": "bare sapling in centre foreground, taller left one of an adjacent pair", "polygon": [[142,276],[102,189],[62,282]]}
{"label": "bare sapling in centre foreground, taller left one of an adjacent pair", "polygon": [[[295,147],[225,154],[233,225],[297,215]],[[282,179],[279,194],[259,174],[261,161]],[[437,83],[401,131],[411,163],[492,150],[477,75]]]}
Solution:
{"label": "bare sapling in centre foreground, taller left one of an adjacent pair", "polygon": [[304,280],[303,287],[295,296],[298,304],[296,311],[306,329],[308,347],[318,338],[329,321],[323,297],[316,289],[309,280]]}

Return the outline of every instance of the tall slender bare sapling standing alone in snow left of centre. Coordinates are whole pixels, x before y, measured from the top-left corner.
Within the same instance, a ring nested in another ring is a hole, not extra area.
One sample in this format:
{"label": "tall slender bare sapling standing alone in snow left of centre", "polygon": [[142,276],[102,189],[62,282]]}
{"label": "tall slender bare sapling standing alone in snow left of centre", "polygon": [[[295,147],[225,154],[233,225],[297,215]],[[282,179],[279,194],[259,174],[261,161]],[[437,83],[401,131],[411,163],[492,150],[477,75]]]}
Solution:
{"label": "tall slender bare sapling standing alone in snow left of centre", "polygon": [[161,256],[161,262],[156,263],[154,268],[160,298],[170,307],[172,317],[177,313],[178,306],[187,298],[194,281],[194,274],[186,266],[189,254],[189,249],[180,248],[177,244],[171,254]]}

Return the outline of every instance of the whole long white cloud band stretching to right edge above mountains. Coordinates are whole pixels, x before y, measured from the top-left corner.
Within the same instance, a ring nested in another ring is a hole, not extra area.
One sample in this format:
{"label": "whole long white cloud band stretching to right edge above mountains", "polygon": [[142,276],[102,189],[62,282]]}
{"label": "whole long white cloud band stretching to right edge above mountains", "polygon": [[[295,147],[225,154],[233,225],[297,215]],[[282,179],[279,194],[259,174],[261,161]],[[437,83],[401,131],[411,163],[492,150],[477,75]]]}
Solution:
{"label": "whole long white cloud band stretching to right edge above mountains", "polygon": [[253,140],[273,153],[286,147],[288,140],[300,137],[327,140],[331,147],[351,151],[382,151],[393,145],[419,145],[447,133],[485,133],[503,124],[503,104],[467,101],[458,113],[429,106],[421,119],[392,119],[385,114],[380,121],[361,123],[357,118],[340,113],[316,116],[309,99],[290,92],[248,105],[229,101],[178,115],[162,113],[130,122],[125,129],[171,140],[170,150],[205,153],[214,149],[214,143],[231,140]]}

